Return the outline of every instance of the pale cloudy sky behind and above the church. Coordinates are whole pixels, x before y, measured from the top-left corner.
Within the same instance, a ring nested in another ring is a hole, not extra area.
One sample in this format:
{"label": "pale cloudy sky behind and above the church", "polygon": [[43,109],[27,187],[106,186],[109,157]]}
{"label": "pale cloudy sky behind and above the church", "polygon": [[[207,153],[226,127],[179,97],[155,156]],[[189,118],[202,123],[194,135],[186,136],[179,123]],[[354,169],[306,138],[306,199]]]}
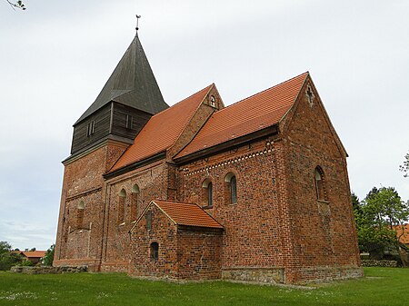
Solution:
{"label": "pale cloudy sky behind and above the church", "polygon": [[135,36],[167,104],[215,83],[229,105],[309,71],[352,190],[393,186],[409,152],[409,1],[0,0],[0,241],[55,242],[73,123]]}

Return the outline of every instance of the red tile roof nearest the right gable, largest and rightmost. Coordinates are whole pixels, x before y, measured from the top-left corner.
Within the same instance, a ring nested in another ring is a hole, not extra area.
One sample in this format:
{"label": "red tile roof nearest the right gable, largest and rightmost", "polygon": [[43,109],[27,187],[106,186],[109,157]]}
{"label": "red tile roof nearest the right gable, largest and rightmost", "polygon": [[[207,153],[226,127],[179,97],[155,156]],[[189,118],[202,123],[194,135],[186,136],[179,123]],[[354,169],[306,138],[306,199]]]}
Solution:
{"label": "red tile roof nearest the right gable, largest and rightmost", "polygon": [[175,158],[279,123],[294,104],[307,76],[308,73],[300,74],[215,112]]}

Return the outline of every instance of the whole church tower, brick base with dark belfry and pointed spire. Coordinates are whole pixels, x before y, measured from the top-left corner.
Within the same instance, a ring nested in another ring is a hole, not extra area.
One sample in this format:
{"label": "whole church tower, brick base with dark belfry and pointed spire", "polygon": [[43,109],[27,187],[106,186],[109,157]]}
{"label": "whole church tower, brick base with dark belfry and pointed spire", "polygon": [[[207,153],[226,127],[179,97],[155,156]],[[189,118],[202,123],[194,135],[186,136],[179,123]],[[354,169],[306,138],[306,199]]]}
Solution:
{"label": "whole church tower, brick base with dark belfry and pointed spire", "polygon": [[168,107],[136,33],[95,102],[74,123],[71,155],[63,162],[56,266],[100,269],[107,192],[103,175],[145,123]]}

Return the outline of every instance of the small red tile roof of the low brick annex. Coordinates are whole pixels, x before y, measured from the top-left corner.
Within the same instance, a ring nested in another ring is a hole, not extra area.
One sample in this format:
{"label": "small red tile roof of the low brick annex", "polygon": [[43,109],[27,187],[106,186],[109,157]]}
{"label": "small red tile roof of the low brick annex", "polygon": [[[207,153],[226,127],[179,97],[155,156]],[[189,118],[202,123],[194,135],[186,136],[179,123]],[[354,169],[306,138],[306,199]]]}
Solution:
{"label": "small red tile roof of the low brick annex", "polygon": [[153,202],[178,225],[223,229],[219,222],[195,203],[162,200]]}

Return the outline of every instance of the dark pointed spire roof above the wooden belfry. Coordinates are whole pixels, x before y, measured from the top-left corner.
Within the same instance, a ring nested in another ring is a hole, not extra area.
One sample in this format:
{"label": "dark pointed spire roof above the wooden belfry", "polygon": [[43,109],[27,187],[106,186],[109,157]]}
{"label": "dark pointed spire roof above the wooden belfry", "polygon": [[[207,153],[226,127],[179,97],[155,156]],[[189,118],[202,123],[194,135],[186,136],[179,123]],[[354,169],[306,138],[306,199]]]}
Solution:
{"label": "dark pointed spire roof above the wooden belfry", "polygon": [[149,114],[157,114],[169,107],[156,83],[137,33],[95,102],[75,124],[111,101]]}

